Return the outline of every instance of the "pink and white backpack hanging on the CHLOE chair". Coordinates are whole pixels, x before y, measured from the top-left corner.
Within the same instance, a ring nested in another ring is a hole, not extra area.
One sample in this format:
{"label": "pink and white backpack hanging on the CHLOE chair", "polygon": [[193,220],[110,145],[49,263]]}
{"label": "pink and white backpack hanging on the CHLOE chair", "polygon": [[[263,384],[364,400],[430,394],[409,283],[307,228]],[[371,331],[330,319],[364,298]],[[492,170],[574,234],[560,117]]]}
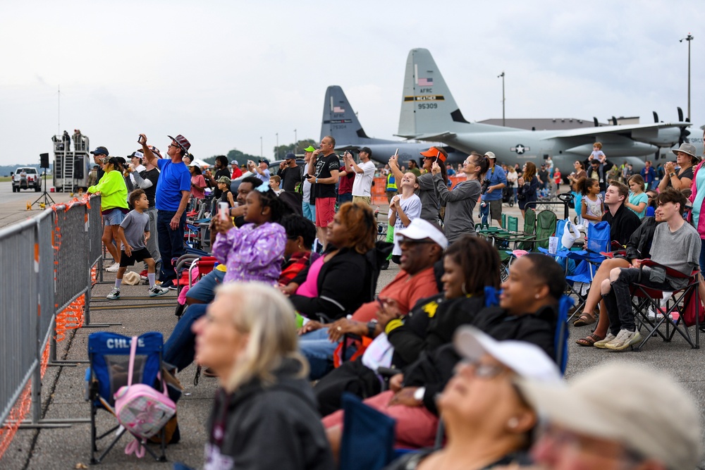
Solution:
{"label": "pink and white backpack hanging on the CHLOE chair", "polygon": [[[144,443],[146,439],[159,433],[166,421],[176,414],[176,404],[166,393],[166,383],[164,383],[164,392],[159,392],[143,383],[132,384],[136,352],[137,336],[133,336],[130,344],[128,385],[115,392],[115,416],[125,429],[142,438]],[[145,452],[141,447],[135,441],[128,444],[125,453],[135,452],[137,457],[142,457]]]}

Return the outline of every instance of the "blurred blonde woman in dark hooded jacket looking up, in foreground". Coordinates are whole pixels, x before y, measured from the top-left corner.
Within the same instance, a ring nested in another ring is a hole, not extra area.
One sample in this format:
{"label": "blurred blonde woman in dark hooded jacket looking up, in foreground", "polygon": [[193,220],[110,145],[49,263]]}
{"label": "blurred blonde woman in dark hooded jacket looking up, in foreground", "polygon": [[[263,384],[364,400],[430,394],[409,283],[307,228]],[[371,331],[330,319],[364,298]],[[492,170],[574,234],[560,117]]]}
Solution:
{"label": "blurred blonde woman in dark hooded jacket looking up, in foreground", "polygon": [[220,381],[205,468],[335,466],[298,352],[294,309],[281,292],[224,284],[192,329],[196,361]]}

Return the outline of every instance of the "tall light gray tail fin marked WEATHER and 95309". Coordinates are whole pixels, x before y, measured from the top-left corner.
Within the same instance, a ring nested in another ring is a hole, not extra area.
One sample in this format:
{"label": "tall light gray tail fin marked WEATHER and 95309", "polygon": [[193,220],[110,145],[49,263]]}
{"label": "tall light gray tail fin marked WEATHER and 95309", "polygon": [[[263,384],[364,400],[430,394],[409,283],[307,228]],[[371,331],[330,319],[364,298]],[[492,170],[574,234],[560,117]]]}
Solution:
{"label": "tall light gray tail fin marked WEATHER and 95309", "polygon": [[398,135],[467,132],[470,127],[428,49],[409,51]]}

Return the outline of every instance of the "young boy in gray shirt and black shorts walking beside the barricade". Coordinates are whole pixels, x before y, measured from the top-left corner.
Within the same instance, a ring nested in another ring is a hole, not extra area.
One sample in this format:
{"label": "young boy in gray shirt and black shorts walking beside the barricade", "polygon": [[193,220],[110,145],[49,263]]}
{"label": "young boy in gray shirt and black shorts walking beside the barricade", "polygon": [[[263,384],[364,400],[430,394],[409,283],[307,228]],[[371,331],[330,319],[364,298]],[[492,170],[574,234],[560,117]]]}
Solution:
{"label": "young boy in gray shirt and black shorts walking beside the barricade", "polygon": [[120,228],[118,238],[122,242],[123,250],[120,256],[120,268],[115,278],[115,287],[106,296],[106,299],[120,298],[120,285],[128,266],[133,266],[135,261],[145,261],[147,264],[147,278],[149,279],[149,297],[157,297],[169,292],[168,289],[157,285],[154,280],[154,258],[149,254],[145,243],[152,235],[149,233],[149,215],[145,211],[149,208],[149,199],[143,190],[130,192],[130,205],[133,210],[125,216]]}

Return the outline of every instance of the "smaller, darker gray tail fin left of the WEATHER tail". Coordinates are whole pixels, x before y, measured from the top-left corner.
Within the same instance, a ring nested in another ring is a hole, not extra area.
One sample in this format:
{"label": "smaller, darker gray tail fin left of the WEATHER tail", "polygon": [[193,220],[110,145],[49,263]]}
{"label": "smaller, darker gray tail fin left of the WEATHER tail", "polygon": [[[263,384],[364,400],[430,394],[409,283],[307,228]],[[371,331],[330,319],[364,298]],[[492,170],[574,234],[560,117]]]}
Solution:
{"label": "smaller, darker gray tail fin left of the WEATHER tail", "polygon": [[353,106],[350,106],[343,89],[338,85],[326,89],[321,139],[326,135],[332,135],[339,144],[357,144],[361,139],[369,139],[357,120]]}

